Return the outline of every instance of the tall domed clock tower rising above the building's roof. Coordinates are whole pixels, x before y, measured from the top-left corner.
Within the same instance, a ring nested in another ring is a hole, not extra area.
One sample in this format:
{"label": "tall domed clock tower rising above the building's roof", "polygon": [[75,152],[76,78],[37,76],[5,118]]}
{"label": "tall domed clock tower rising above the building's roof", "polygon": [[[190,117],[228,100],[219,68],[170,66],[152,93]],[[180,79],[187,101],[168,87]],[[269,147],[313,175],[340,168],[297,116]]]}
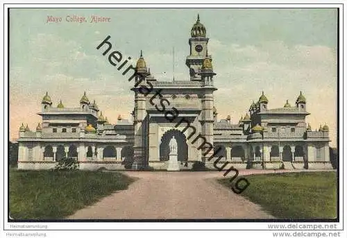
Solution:
{"label": "tall domed clock tower rising above the building's roof", "polygon": [[185,65],[189,67],[190,80],[201,80],[201,76],[198,73],[201,67],[203,67],[203,60],[205,60],[205,58],[212,60],[212,58],[208,56],[206,28],[201,24],[199,15],[190,33],[192,35],[192,37],[189,38],[190,55],[187,56]]}

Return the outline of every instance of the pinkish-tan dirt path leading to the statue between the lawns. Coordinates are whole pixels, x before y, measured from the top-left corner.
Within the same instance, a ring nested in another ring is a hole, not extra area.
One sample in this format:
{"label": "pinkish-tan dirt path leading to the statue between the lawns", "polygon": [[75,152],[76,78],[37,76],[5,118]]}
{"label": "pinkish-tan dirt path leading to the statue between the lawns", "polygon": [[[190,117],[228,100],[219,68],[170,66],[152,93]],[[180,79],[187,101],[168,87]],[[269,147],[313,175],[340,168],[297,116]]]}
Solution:
{"label": "pinkish-tan dirt path leading to the statue between the lawns", "polygon": [[222,178],[220,172],[124,173],[139,180],[133,182],[127,190],[116,192],[90,207],[78,210],[68,219],[273,218],[259,205],[219,185],[215,178]]}

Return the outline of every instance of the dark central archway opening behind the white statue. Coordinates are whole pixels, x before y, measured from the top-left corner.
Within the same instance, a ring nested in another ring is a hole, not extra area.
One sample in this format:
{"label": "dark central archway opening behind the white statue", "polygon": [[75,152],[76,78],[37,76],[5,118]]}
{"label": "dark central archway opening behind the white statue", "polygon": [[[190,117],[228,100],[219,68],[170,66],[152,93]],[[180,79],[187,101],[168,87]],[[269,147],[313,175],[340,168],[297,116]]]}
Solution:
{"label": "dark central archway opening behind the white statue", "polygon": [[178,161],[187,161],[188,160],[188,145],[185,135],[179,130],[169,130],[164,135],[162,135],[162,140],[160,142],[160,161],[169,160],[169,142],[172,137],[175,137],[177,141],[177,158]]}

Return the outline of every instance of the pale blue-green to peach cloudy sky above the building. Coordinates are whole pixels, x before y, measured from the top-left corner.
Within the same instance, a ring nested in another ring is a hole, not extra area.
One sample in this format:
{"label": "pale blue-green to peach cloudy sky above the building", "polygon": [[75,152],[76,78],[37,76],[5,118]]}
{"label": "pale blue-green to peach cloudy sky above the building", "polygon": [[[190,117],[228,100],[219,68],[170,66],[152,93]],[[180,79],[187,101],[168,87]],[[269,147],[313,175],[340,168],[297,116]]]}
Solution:
{"label": "pale blue-green to peach cloudy sky above the building", "polygon": [[[337,10],[333,8],[31,8],[10,10],[10,139],[19,126],[35,130],[46,92],[58,105],[78,107],[86,92],[115,123],[130,118],[131,84],[96,50],[108,35],[112,49],[135,65],[143,51],[158,80],[189,80],[185,58],[190,30],[200,15],[212,55],[214,105],[232,122],[264,91],[268,108],[295,105],[303,92],[312,130],[327,124],[337,144]],[[110,22],[90,22],[92,15]],[[47,18],[61,17],[61,22]],[[67,22],[67,17],[87,22]],[[175,49],[173,62],[172,49]]]}

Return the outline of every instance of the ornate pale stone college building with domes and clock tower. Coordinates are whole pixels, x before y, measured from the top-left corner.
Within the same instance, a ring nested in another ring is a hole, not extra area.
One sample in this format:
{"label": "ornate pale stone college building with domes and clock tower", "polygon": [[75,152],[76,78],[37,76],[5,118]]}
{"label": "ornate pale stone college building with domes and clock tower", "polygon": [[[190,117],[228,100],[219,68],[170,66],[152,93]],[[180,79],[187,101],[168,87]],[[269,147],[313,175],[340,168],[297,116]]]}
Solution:
{"label": "ornate pale stone college building with domes and clock tower", "polygon": [[213,169],[226,161],[237,169],[332,169],[329,128],[312,131],[302,92],[295,105],[287,101],[272,109],[262,92],[238,124],[230,116],[217,119],[208,41],[198,17],[189,38],[187,80],[155,79],[141,53],[130,120],[119,116],[110,124],[86,93],[76,108],[62,101],[53,107],[47,92],[38,113],[42,122],[35,131],[24,124],[19,128],[19,169],[50,169],[64,157],[76,158],[80,169],[167,169],[173,136],[182,170],[196,162]]}

